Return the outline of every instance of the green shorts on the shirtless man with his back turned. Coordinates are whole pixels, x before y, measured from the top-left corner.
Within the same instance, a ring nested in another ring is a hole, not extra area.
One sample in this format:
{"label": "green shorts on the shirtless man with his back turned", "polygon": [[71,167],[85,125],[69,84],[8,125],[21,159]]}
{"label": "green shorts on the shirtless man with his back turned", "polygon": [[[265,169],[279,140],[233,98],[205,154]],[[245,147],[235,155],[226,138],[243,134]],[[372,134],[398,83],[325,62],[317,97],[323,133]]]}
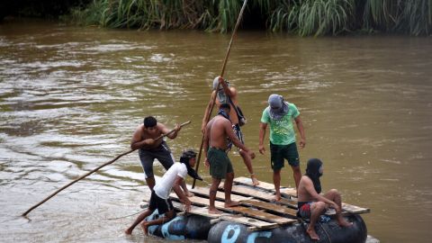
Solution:
{"label": "green shorts on the shirtless man with his back turned", "polygon": [[210,163],[210,175],[213,178],[225,179],[227,173],[234,172],[227,153],[220,148],[209,148],[207,159]]}

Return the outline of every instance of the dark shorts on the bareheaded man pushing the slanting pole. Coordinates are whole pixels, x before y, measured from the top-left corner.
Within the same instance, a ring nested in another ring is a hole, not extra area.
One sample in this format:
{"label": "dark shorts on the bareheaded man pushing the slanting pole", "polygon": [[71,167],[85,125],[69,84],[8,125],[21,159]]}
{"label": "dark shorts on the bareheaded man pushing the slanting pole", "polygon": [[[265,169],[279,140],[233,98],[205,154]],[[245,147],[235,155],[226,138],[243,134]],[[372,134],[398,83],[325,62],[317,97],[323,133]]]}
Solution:
{"label": "dark shorts on the bareheaded man pushing the slanting pole", "polygon": [[157,158],[157,160],[164,166],[166,170],[169,167],[173,166],[175,159],[171,150],[166,145],[165,141],[157,148],[152,149],[142,149],[139,148],[139,160],[141,160],[141,166],[144,169],[144,174],[146,175],[146,179],[148,177],[154,177],[153,174],[153,162]]}

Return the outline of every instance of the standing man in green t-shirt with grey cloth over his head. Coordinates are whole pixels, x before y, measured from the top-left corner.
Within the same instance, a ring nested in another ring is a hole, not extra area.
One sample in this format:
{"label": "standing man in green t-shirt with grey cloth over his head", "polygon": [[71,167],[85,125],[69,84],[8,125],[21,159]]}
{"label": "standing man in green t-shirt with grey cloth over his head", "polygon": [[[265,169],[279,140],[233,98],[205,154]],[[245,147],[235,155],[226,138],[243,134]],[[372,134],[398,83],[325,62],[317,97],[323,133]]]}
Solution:
{"label": "standing man in green t-shirt with grey cloth over his head", "polygon": [[264,139],[267,125],[270,124],[270,156],[273,169],[273,182],[275,184],[275,200],[281,200],[281,169],[284,167],[284,159],[293,168],[295,188],[298,188],[302,173],[300,171],[300,158],[295,144],[295,131],[293,120],[300,132],[300,148],[306,145],[302,119],[300,112],[293,103],[284,101],[279,94],[271,94],[268,97],[268,106],[263,112],[259,130],[259,152],[264,155]]}

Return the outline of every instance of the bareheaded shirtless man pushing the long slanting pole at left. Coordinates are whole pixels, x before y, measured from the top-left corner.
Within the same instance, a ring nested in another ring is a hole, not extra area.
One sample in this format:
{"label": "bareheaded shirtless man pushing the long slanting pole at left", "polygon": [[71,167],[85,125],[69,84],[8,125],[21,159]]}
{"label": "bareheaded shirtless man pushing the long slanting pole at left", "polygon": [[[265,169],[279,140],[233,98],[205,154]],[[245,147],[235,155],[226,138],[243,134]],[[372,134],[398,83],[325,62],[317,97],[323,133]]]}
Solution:
{"label": "bareheaded shirtless man pushing the long slanting pole at left", "polygon": [[[166,137],[169,139],[175,139],[180,129],[180,125],[176,124],[175,131]],[[132,136],[130,148],[139,148],[139,160],[144,169],[146,183],[150,190],[153,190],[153,187],[155,186],[155,175],[153,174],[153,162],[155,158],[159,160],[160,164],[162,164],[166,170],[168,170],[175,162],[175,158],[173,157],[168,145],[166,145],[165,140],[155,140],[157,137],[166,134],[167,132],[169,132],[169,130],[164,124],[157,122],[156,118],[153,116],[148,116],[144,118],[144,123],[137,127]],[[186,196],[193,196],[193,193],[187,190],[184,181],[182,188],[184,193],[186,193]]]}

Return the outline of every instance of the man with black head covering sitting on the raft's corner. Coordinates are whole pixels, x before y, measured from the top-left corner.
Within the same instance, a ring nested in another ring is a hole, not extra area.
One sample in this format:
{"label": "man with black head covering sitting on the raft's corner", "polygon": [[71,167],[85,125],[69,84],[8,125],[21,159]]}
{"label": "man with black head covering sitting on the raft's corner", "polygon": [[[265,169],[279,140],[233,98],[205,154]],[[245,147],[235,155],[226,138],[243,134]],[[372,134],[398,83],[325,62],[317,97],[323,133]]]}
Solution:
{"label": "man with black head covering sitting on the raft's corner", "polygon": [[336,218],[341,227],[349,227],[351,222],[342,217],[342,198],[338,190],[331,189],[328,193],[321,195],[320,176],[323,174],[322,162],[318,158],[311,158],[306,167],[306,174],[302,176],[298,188],[298,214],[303,219],[311,220],[306,229],[311,239],[320,240],[315,231],[315,223],[320,215],[326,212],[329,207],[336,210]]}

